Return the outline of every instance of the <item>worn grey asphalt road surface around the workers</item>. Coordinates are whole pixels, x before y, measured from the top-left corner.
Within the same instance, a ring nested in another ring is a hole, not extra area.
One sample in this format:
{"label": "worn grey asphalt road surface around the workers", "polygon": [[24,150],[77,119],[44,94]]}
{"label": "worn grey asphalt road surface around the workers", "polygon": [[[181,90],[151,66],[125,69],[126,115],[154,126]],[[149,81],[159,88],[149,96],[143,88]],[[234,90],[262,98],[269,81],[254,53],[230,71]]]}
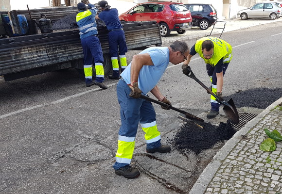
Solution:
{"label": "worn grey asphalt road surface around the workers", "polygon": [[[221,36],[233,46],[224,96],[240,97],[241,91],[260,88],[281,91],[281,29],[282,21],[278,21]],[[195,39],[186,41],[190,47],[195,43]],[[128,61],[138,52],[128,52]],[[198,56],[192,59],[194,74],[208,85],[203,60]],[[162,94],[176,108],[210,122],[205,117],[210,108],[209,95],[183,75],[180,67],[169,65],[158,85]],[[106,79],[107,90],[87,88],[74,69],[0,80],[0,193],[188,193],[221,145],[199,155],[181,153],[175,147],[167,154],[147,154],[140,128],[133,165],[140,169],[141,176],[132,180],[115,175],[111,166],[120,127],[116,83]],[[269,99],[269,103],[275,100]],[[260,103],[258,100],[249,106],[262,111],[255,106]],[[162,110],[159,105],[155,109],[162,142],[171,144],[183,122],[177,119],[177,112]],[[224,119],[224,115],[219,118]]]}

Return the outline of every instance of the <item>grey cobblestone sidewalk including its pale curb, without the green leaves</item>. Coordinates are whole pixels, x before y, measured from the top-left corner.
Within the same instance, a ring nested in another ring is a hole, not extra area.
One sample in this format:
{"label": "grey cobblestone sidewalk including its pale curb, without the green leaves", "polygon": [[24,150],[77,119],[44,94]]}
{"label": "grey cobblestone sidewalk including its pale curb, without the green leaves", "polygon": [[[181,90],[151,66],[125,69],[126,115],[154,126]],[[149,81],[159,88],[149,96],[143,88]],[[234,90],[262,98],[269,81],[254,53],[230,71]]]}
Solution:
{"label": "grey cobblestone sidewalk including its pale curb, without the green leaves", "polygon": [[214,156],[189,194],[282,194],[282,141],[259,149],[264,128],[282,133],[282,97],[240,129]]}

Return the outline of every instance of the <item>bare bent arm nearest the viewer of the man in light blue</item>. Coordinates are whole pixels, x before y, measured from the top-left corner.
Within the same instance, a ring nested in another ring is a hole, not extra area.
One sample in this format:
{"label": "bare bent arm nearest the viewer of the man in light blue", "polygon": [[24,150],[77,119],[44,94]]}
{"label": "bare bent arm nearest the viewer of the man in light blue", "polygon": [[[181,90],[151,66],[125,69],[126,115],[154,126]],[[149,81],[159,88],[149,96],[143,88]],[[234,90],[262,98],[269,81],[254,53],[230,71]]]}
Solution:
{"label": "bare bent arm nearest the viewer of the man in light blue", "polygon": [[143,65],[154,65],[148,53],[134,55],[131,62],[130,84],[138,81],[139,72]]}

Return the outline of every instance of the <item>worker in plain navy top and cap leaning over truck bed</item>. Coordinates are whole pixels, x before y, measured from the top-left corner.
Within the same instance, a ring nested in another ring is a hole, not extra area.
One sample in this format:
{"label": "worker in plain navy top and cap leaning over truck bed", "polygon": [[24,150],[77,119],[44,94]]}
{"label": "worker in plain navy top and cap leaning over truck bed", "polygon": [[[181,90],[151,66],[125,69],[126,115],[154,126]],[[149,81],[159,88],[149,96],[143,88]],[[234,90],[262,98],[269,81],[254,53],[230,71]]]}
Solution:
{"label": "worker in plain navy top and cap leaning over truck bed", "polygon": [[[127,46],[125,42],[125,35],[123,32],[123,26],[119,19],[119,13],[116,8],[110,9],[106,0],[99,1],[99,6],[102,12],[96,16],[96,19],[101,19],[105,22],[108,32],[108,42],[111,61],[113,65],[113,74],[108,76],[109,79],[120,79],[118,57],[120,57],[120,63],[122,71],[126,68],[126,56]],[[119,52],[118,52],[119,48]]]}

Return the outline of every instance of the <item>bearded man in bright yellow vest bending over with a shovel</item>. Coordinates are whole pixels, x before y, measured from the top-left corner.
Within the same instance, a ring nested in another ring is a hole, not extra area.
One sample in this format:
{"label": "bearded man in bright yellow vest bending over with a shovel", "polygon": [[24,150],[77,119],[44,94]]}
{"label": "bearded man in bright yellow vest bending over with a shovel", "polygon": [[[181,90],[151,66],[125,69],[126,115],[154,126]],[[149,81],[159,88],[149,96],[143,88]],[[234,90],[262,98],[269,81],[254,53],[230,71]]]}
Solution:
{"label": "bearded man in bright yellow vest bending over with a shovel", "polygon": [[[195,45],[182,65],[186,68],[189,65],[191,57],[196,53],[204,59],[207,67],[207,73],[212,83],[212,92],[219,97],[219,101],[211,95],[211,111],[207,114],[207,118],[214,118],[219,113],[219,103],[222,98],[223,76],[232,59],[232,47],[226,41],[216,37],[203,37],[196,41]],[[188,73],[188,71],[183,71]]]}

